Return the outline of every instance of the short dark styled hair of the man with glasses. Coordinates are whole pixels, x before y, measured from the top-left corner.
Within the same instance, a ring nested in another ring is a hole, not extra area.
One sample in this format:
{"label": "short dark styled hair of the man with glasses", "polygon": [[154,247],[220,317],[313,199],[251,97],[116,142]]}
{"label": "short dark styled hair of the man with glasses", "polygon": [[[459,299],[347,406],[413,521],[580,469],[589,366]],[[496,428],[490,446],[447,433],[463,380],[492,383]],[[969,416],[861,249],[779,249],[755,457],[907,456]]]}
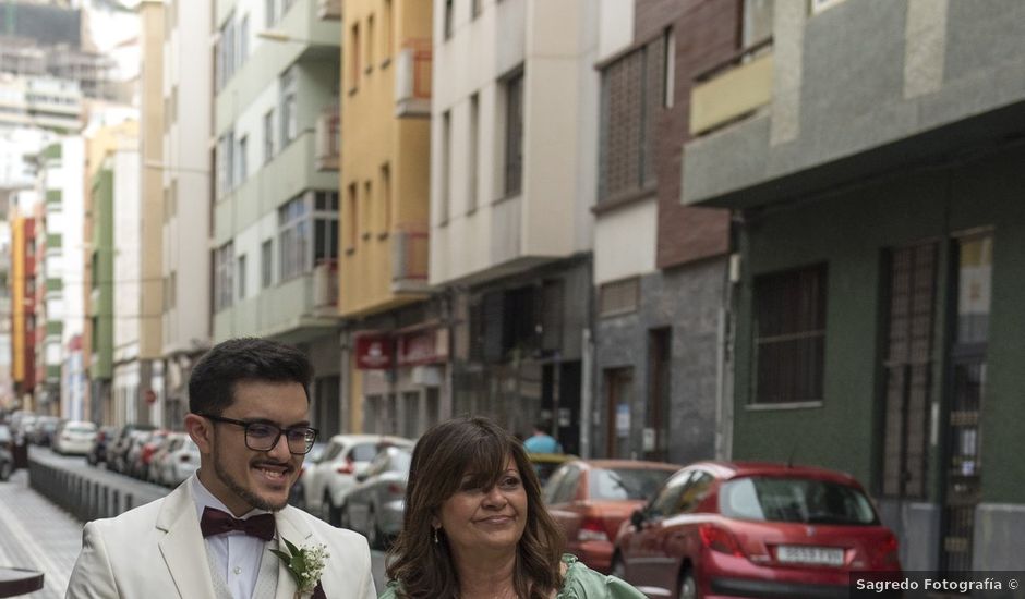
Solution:
{"label": "short dark styled hair of the man with glasses", "polygon": [[298,382],[310,401],[313,365],[305,354],[278,341],[253,337],[214,345],[189,378],[189,412],[220,416],[234,401],[240,381]]}

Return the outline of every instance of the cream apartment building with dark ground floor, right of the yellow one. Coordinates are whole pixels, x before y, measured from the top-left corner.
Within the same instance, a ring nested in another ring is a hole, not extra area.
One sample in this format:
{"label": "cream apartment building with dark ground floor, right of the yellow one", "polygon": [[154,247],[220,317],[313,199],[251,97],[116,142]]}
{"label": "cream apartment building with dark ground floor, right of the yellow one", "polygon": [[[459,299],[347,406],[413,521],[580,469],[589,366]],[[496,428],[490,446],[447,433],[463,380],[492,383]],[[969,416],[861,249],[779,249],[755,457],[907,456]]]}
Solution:
{"label": "cream apartment building with dark ground floor, right of the yellow one", "polygon": [[587,454],[599,12],[434,8],[430,282],[454,295],[453,412],[545,420]]}

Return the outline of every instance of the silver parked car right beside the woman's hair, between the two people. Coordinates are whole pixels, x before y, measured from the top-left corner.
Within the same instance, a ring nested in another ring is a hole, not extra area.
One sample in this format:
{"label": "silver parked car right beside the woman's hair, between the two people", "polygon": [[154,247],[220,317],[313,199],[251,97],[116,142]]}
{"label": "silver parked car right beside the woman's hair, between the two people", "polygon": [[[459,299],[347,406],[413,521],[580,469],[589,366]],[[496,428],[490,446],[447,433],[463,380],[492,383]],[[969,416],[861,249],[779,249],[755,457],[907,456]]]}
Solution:
{"label": "silver parked car right beside the woman's hair, between the two people", "polygon": [[386,448],[355,475],[346,498],[341,525],[361,533],[374,549],[383,549],[402,529],[406,480],[412,461],[410,448]]}

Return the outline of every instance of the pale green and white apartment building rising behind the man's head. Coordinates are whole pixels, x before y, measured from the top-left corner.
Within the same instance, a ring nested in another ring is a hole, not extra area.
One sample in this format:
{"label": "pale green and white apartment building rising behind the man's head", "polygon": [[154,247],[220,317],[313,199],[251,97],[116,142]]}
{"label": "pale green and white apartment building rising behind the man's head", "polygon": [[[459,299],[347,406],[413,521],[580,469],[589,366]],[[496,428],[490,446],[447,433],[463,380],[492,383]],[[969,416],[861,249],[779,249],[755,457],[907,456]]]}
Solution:
{"label": "pale green and white apartment building rising behind the man's head", "polygon": [[325,130],[340,97],[337,8],[214,2],[213,341],[269,337],[308,352],[322,435],[340,426],[337,145]]}

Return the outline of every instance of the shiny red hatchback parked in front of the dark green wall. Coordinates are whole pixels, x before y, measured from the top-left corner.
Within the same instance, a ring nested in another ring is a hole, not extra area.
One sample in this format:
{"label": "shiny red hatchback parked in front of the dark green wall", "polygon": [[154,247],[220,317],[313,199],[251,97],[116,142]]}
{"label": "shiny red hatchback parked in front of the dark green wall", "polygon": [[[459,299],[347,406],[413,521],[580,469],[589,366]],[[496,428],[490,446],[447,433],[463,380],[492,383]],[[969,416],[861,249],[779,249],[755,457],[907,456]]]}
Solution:
{"label": "shiny red hatchback parked in front of the dark green wall", "polygon": [[699,462],[623,524],[613,572],[653,597],[846,598],[852,572],[901,570],[897,540],[853,477]]}

